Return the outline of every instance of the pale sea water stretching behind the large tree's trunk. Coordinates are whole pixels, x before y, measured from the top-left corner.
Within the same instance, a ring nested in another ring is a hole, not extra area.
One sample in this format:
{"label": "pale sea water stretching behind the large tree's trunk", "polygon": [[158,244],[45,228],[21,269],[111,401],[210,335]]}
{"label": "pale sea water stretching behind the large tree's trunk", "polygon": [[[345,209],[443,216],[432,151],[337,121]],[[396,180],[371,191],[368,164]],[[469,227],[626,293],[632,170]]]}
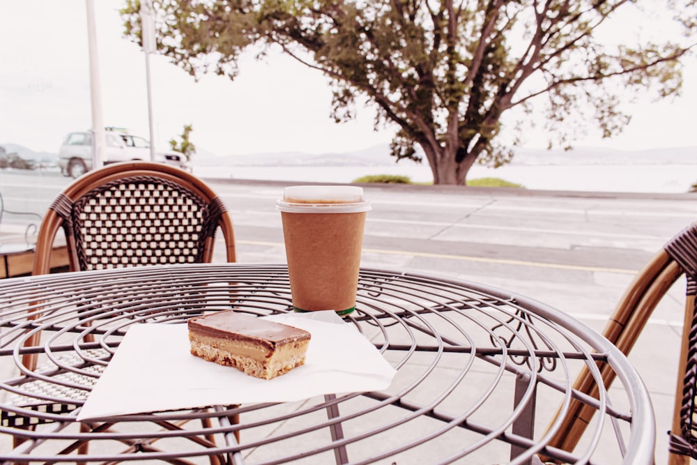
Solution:
{"label": "pale sea water stretching behind the large tree's trunk", "polygon": [[[376,166],[254,166],[229,163],[194,165],[201,177],[259,179],[269,181],[351,183],[369,174],[408,176],[415,183],[433,181],[427,164],[402,160]],[[475,165],[468,179],[501,178],[534,190],[592,192],[685,193],[697,184],[697,150],[679,157],[555,158],[523,156],[493,169]]]}

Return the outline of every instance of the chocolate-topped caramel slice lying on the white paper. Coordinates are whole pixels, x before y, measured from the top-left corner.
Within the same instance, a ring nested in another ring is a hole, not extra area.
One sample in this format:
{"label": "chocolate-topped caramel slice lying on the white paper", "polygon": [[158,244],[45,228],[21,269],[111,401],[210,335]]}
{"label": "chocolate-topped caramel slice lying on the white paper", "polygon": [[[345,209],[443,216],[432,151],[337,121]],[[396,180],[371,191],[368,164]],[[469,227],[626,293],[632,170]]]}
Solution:
{"label": "chocolate-topped caramel slice lying on the white paper", "polygon": [[261,379],[304,364],[310,340],[305,330],[235,310],[194,317],[188,327],[194,356]]}

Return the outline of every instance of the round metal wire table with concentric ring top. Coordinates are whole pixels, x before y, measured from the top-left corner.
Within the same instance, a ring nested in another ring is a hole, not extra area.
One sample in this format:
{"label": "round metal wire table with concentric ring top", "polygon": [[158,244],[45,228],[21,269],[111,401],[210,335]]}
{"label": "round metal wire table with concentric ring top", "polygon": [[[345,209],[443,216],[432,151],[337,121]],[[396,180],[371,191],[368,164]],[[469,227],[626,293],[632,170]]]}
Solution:
{"label": "round metal wire table with concentric ring top", "polygon": [[[385,391],[75,420],[130,325],[184,324],[224,308],[292,311],[286,266],[152,266],[0,282],[0,462],[653,462],[648,392],[594,330],[507,291],[394,270],[362,269],[356,311],[345,318],[397,369]],[[41,343],[26,346],[39,331]],[[31,354],[40,368],[26,368]],[[611,392],[600,364],[618,376]],[[597,399],[572,392],[583,365],[599,379]],[[597,410],[586,437],[573,452],[547,447],[556,413],[572,398]]]}

